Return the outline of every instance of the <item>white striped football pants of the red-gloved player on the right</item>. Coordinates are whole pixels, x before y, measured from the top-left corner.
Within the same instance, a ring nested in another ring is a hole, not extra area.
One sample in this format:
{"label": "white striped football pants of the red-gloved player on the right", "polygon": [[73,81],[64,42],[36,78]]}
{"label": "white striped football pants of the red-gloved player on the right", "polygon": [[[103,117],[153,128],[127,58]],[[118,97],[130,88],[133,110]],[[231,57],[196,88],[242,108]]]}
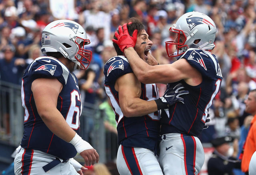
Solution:
{"label": "white striped football pants of the red-gloved player on the right", "polygon": [[162,135],[159,164],[165,175],[197,175],[205,160],[203,146],[195,136]]}

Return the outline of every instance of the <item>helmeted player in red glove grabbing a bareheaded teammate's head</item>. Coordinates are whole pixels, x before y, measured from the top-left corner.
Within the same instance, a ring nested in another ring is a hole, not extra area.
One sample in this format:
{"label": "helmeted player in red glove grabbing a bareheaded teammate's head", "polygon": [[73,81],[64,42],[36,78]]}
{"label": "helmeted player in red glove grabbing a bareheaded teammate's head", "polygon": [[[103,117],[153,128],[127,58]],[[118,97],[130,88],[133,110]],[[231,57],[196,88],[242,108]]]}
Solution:
{"label": "helmeted player in red glove grabbing a bareheaded teammate's head", "polygon": [[[185,104],[169,106],[169,111],[161,113],[161,137],[159,163],[163,173],[198,174],[204,163],[204,151],[198,135],[203,131],[208,108],[219,91],[222,74],[218,60],[211,54],[214,48],[216,25],[213,20],[200,12],[183,14],[170,32],[177,34],[174,41],[166,42],[169,57],[176,57],[172,64],[151,66],[139,58],[134,38],[123,30],[115,33],[113,40],[124,49],[130,66],[142,83],[168,83],[173,87],[182,83],[189,94],[184,96]],[[124,37],[125,36],[125,37]],[[169,54],[169,45],[176,50]],[[150,53],[145,50],[145,56]],[[175,84],[176,84],[175,83]]]}

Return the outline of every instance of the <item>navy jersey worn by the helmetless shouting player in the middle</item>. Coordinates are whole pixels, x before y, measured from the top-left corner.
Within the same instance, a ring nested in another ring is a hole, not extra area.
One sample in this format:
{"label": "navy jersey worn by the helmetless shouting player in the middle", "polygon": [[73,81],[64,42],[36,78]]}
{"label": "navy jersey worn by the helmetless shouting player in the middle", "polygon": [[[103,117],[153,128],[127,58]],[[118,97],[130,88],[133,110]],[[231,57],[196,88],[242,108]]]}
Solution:
{"label": "navy jersey worn by the helmetless shouting player in the middle", "polygon": [[[124,56],[113,57],[104,66],[105,89],[115,113],[118,144],[154,150],[160,131],[160,111],[140,117],[125,117],[119,105],[118,91],[114,87],[115,81],[131,72],[133,71]],[[141,83],[141,90],[140,98],[143,100],[159,98],[156,84]]]}

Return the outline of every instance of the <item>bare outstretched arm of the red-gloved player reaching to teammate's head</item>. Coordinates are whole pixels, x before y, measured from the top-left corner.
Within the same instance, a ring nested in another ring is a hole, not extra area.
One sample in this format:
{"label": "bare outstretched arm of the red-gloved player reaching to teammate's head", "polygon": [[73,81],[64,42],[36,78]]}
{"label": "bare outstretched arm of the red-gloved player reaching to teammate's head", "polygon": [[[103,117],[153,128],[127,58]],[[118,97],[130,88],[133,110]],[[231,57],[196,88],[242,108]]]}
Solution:
{"label": "bare outstretched arm of the red-gloved player reaching to teammate's head", "polygon": [[186,59],[150,66],[139,58],[134,48],[129,47],[124,52],[134,74],[142,83],[171,83],[184,79],[187,84],[196,86],[202,82],[202,75]]}

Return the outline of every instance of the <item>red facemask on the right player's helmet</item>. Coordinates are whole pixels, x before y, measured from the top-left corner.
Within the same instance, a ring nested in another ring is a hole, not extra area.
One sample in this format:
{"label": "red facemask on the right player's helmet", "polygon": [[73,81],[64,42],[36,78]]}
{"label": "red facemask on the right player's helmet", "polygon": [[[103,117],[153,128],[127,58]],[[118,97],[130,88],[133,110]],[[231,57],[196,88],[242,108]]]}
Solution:
{"label": "red facemask on the right player's helmet", "polygon": [[[174,26],[176,27],[176,25],[173,25],[173,27]],[[186,40],[187,40],[187,37],[186,37],[185,33],[182,30],[175,29],[173,27],[170,28],[170,32],[177,33],[177,37],[178,37],[177,41],[178,41],[178,43],[175,43],[174,41],[165,41],[165,48],[166,48],[166,52],[167,52],[168,57],[181,56],[185,52],[184,50],[187,50],[187,48],[189,48],[188,45],[184,45]],[[180,41],[181,40],[181,36],[184,37],[184,41],[182,41],[182,43],[180,43],[181,42]],[[169,54],[169,47],[168,47],[169,44],[177,45],[176,46],[177,54],[174,54],[174,53]],[[183,50],[182,50],[182,48],[183,48]],[[181,51],[181,53],[179,51]]]}

